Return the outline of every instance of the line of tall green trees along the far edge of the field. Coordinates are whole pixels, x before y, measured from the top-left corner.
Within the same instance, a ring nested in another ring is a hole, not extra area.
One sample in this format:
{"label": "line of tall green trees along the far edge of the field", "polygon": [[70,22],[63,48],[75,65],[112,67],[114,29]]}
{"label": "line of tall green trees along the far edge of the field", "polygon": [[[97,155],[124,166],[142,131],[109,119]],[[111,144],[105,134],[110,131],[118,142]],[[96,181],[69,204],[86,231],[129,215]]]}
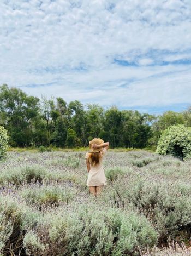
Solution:
{"label": "line of tall green trees along the far edge of the field", "polygon": [[172,124],[191,127],[191,107],[182,112],[150,115],[135,110],[83,106],[78,100],[47,99],[21,89],[0,86],[0,126],[8,130],[12,147],[83,147],[102,138],[111,147],[155,147],[163,130]]}

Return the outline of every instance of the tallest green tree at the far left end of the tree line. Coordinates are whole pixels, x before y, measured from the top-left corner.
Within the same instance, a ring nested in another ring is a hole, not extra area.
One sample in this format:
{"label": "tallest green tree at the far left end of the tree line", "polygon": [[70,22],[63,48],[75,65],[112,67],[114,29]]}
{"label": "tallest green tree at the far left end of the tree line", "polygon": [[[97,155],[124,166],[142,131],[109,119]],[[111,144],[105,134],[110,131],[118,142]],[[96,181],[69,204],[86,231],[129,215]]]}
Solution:
{"label": "tallest green tree at the far left end of the tree line", "polygon": [[0,87],[2,123],[10,135],[11,146],[29,146],[32,141],[32,123],[39,111],[39,99],[28,96],[18,88]]}

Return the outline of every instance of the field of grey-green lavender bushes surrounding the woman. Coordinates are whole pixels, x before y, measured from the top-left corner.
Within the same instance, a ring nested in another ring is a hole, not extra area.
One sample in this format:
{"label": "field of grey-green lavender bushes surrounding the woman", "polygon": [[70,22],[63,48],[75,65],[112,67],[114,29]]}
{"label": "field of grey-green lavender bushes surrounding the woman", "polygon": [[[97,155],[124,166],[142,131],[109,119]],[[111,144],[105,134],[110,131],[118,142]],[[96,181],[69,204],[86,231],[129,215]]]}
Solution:
{"label": "field of grey-green lavender bushes surrounding the woman", "polygon": [[108,185],[94,197],[85,153],[8,152],[0,255],[191,255],[191,160],[109,150]]}

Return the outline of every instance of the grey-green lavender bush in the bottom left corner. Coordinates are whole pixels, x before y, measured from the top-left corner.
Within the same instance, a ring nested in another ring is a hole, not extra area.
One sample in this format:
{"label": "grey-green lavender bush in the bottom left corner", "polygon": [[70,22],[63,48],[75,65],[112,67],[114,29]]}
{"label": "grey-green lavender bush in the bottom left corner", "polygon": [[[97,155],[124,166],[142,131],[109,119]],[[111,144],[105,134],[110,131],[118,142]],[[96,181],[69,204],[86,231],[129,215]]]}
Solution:
{"label": "grey-green lavender bush in the bottom left corner", "polygon": [[39,214],[25,203],[0,197],[0,254],[23,255],[23,236],[28,228],[34,229],[39,220]]}

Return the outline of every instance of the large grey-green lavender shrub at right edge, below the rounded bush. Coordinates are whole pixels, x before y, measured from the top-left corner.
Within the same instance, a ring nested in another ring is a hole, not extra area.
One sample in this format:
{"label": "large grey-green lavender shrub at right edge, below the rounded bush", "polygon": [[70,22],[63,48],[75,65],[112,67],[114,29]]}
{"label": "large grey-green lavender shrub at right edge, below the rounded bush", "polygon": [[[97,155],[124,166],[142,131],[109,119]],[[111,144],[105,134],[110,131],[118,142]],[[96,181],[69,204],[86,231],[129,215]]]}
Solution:
{"label": "large grey-green lavender shrub at right edge, below the rounded bush", "polygon": [[168,236],[175,237],[180,229],[190,228],[190,185],[139,180],[125,188],[118,186],[117,191],[125,205],[134,205],[152,221],[160,242]]}

